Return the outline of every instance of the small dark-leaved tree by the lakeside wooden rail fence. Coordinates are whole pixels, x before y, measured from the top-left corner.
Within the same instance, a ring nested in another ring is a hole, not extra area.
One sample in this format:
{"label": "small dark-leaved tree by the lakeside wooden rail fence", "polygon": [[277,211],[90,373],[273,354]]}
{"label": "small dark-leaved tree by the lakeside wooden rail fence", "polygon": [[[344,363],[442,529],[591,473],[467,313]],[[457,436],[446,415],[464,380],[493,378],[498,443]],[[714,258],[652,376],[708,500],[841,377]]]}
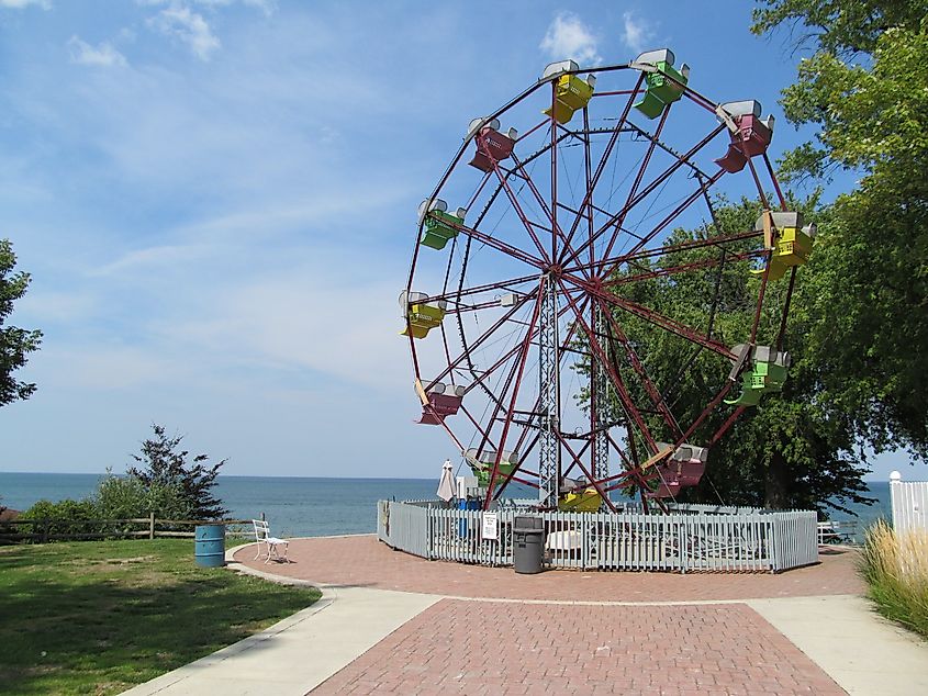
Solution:
{"label": "small dark-leaved tree by the lakeside wooden rail fence", "polygon": [[208,454],[178,451],[183,436],[168,437],[164,426],[152,426],[155,436],[142,442],[142,454],[133,459],[142,467],[132,467],[126,473],[137,479],[148,490],[176,491],[187,505],[187,514],[194,519],[219,519],[228,514],[222,501],[213,495],[220,469],[227,460],[210,464]]}

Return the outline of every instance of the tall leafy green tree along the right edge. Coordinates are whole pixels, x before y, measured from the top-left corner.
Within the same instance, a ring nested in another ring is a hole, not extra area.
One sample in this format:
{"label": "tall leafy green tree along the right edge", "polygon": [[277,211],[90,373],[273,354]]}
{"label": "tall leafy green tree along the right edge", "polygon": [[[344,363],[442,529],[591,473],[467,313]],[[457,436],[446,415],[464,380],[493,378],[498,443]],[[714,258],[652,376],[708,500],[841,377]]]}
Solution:
{"label": "tall leafy green tree along the right edge", "polygon": [[815,49],[782,102],[815,142],[783,171],[860,177],[816,245],[807,348],[823,368],[819,398],[851,418],[859,441],[928,458],[928,2],[761,4],[756,33],[792,26],[793,43]]}

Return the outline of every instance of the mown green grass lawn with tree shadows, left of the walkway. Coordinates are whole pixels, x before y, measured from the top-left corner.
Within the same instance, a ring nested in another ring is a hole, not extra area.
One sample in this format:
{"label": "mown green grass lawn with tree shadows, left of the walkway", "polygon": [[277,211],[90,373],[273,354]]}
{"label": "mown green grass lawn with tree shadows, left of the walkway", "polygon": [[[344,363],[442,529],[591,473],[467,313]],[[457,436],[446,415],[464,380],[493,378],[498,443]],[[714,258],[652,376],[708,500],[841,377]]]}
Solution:
{"label": "mown green grass lawn with tree shadows, left of the walkway", "polygon": [[0,693],[118,694],[318,596],[197,568],[192,539],[0,547]]}

